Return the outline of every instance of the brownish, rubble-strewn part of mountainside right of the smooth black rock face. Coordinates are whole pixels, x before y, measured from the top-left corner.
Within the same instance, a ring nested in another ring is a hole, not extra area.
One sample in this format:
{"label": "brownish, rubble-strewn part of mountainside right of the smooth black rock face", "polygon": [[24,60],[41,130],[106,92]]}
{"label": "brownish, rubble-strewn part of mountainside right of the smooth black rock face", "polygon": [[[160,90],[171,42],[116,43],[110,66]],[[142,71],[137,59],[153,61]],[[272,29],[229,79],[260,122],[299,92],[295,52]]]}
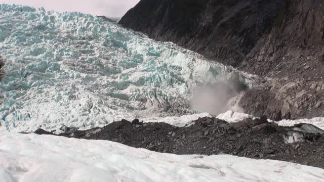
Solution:
{"label": "brownish, rubble-strewn part of mountainside right of the smooth black rock face", "polygon": [[[271,119],[279,111],[285,119],[323,117],[324,2],[299,0],[286,5],[271,32],[259,39],[239,66],[272,80],[250,90],[240,105]],[[251,103],[259,103],[260,110]]]}

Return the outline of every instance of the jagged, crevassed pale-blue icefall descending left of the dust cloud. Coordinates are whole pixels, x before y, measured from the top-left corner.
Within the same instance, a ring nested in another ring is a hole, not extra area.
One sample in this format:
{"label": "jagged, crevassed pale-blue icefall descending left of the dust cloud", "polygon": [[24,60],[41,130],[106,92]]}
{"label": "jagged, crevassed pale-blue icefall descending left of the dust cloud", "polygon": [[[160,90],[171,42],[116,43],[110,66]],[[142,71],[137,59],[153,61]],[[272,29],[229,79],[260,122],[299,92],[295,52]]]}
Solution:
{"label": "jagged, crevassed pale-blue icefall descending left of the dust cloud", "polygon": [[0,22],[0,114],[9,129],[190,114],[197,87],[252,84],[230,66],[87,14],[3,4]]}

